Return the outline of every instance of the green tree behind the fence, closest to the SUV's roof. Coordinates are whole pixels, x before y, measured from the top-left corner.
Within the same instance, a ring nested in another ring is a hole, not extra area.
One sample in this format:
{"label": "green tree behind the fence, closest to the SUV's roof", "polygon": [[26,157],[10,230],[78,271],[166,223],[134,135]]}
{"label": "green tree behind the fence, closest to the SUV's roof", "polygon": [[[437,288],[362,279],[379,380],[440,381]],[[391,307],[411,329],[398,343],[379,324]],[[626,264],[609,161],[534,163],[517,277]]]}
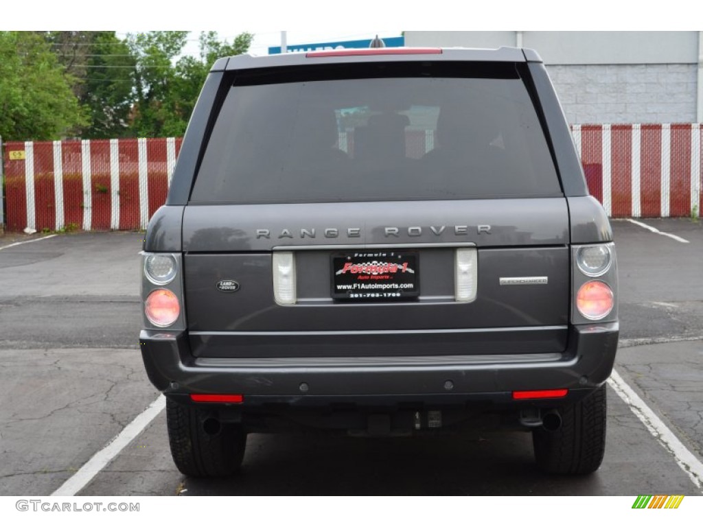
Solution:
{"label": "green tree behind the fence, closest to the SUV's roof", "polygon": [[[129,36],[137,57],[136,103],[132,131],[136,136],[181,136],[186,131],[207,72],[221,56],[245,53],[252,34],[231,44],[216,32],[200,34],[200,58],[181,56],[186,31],[155,31]],[[180,58],[179,58],[180,57]]]}

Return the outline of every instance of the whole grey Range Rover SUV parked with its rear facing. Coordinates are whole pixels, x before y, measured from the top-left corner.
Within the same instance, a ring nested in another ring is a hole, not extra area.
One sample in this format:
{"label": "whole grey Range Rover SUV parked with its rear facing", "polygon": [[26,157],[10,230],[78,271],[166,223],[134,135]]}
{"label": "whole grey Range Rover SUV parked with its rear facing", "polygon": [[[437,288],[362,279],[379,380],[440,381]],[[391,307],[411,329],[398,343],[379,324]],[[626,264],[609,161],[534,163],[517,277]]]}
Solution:
{"label": "whole grey Range Rover SUV parked with its rear facing", "polygon": [[612,231],[534,51],[218,60],[143,249],[184,474],[310,427],[517,429],[549,473],[602,462]]}

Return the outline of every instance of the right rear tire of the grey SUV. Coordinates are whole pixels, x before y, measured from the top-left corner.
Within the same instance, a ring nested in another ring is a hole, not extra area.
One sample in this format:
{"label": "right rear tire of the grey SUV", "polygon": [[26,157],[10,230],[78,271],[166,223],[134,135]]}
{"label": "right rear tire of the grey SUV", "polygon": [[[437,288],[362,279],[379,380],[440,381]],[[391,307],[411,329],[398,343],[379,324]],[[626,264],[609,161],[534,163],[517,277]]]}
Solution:
{"label": "right rear tire of the grey SUV", "polygon": [[574,405],[562,408],[557,431],[532,431],[534,457],[547,474],[591,474],[605,453],[605,384]]}

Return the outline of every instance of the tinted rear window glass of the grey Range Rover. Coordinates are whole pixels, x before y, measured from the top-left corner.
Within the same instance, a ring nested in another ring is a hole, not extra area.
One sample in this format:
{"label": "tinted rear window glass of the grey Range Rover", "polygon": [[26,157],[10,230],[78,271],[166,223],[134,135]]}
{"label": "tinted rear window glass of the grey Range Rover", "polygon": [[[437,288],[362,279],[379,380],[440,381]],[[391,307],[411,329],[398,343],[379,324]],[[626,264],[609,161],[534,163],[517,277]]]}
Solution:
{"label": "tinted rear window glass of the grey Range Rover", "polygon": [[447,68],[234,78],[191,203],[562,195],[515,65]]}

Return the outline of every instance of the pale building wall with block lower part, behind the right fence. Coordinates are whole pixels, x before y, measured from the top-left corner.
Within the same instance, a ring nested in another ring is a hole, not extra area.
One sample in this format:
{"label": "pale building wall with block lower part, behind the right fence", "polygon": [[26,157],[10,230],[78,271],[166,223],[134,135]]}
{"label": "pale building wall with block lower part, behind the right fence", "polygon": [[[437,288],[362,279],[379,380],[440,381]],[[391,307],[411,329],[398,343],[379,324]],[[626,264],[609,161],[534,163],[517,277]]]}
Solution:
{"label": "pale building wall with block lower part, behind the right fence", "polygon": [[696,122],[699,32],[405,32],[406,46],[535,49],[570,123]]}

